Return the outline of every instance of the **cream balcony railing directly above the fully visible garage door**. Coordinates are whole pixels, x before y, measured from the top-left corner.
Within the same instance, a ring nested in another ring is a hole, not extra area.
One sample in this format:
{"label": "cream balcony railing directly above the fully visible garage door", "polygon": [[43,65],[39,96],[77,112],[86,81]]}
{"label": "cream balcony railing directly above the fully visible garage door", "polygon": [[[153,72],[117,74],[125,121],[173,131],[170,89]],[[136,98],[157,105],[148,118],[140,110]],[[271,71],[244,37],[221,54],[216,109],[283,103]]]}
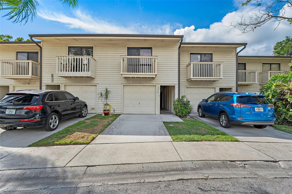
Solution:
{"label": "cream balcony railing directly above the fully visible garage door", "polygon": [[123,77],[156,77],[157,56],[121,56]]}

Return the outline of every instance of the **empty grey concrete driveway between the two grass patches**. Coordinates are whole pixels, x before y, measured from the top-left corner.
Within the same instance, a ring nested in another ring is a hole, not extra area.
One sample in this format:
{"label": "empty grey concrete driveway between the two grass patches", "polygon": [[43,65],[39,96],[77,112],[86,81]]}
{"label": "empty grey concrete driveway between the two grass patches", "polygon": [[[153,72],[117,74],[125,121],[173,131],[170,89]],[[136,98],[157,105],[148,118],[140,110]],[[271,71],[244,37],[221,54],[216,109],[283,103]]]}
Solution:
{"label": "empty grey concrete driveway between the two grass patches", "polygon": [[[173,115],[169,116],[173,117]],[[177,119],[175,117],[173,119]],[[163,117],[163,119],[166,118]],[[169,121],[169,118],[167,120]],[[122,114],[91,144],[171,141],[172,139],[159,115]]]}

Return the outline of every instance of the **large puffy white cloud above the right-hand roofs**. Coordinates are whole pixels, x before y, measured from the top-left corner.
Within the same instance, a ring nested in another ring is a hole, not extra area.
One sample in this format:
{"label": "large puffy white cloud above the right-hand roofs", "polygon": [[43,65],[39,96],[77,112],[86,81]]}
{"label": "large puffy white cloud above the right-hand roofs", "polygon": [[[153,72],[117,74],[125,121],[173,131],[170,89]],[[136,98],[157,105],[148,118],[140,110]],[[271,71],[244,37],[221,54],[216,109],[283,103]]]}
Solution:
{"label": "large puffy white cloud above the right-hand roofs", "polygon": [[[253,32],[241,34],[239,30],[231,30],[230,23],[239,20],[242,14],[252,14],[258,8],[248,6],[226,14],[220,22],[215,22],[209,28],[195,29],[195,26],[175,30],[175,35],[185,35],[185,42],[226,42],[226,43],[248,43],[241,55],[272,55],[273,46],[277,41],[283,40],[285,36],[292,35],[292,25],[282,22],[277,29],[277,22],[272,22],[258,27]],[[285,15],[291,15],[292,8],[287,8]],[[274,30],[275,29],[275,30]],[[239,36],[240,35],[240,36]]]}

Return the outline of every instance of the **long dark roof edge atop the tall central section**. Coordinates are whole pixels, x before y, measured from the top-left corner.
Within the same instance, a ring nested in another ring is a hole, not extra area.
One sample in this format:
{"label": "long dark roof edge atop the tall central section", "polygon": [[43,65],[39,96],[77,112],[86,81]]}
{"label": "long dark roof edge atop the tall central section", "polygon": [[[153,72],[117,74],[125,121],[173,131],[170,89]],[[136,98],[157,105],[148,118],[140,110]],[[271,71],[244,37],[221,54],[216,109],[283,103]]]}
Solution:
{"label": "long dark roof edge atop the tall central section", "polygon": [[183,35],[156,34],[29,34],[30,37],[152,37],[152,38],[182,38]]}

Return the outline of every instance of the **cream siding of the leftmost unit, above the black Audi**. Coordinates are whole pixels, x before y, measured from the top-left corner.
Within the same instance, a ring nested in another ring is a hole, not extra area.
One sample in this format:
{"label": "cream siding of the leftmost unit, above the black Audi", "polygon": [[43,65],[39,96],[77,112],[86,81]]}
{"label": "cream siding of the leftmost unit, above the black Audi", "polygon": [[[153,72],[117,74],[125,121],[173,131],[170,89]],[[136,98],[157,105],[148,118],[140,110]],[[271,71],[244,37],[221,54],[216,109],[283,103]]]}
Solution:
{"label": "cream siding of the leftmost unit, above the black Audi", "polygon": [[[0,60],[16,60],[16,52],[24,52],[24,51],[36,51],[39,52],[39,47],[36,45],[0,45]],[[1,66],[1,64],[0,64]],[[10,85],[10,90],[12,91],[12,85],[22,84],[25,82],[29,82],[29,79],[6,79],[0,76],[1,85]],[[30,80],[29,84],[37,84],[39,85],[39,80]],[[39,89],[39,87],[37,87]]]}

